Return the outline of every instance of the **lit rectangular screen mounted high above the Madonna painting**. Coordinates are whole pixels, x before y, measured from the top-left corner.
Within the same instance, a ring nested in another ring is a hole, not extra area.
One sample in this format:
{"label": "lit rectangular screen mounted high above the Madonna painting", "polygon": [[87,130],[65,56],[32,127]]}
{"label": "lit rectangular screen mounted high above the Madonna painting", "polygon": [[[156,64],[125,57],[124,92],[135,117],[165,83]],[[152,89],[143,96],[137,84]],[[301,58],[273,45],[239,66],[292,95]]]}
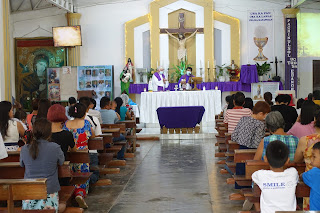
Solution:
{"label": "lit rectangular screen mounted high above the Madonna painting", "polygon": [[53,27],[53,42],[55,47],[81,46],[80,26]]}

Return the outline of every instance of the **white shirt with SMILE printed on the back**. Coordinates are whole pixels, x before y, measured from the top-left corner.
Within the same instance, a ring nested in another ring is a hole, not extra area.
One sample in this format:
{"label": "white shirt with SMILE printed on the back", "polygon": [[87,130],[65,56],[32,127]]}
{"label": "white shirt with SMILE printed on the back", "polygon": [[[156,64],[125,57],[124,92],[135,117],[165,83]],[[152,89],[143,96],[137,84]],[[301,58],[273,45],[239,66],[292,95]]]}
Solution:
{"label": "white shirt with SMILE printed on the back", "polygon": [[261,189],[261,213],[296,211],[299,175],[295,168],[288,168],[283,172],[259,170],[252,174],[252,180]]}

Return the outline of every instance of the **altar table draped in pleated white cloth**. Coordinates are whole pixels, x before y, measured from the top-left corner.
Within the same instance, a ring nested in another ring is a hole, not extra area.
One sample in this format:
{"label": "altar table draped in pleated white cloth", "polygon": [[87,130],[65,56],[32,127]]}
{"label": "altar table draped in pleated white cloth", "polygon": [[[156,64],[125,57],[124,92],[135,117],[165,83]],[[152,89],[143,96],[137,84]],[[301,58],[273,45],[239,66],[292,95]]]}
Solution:
{"label": "altar table draped in pleated white cloth", "polygon": [[140,103],[140,122],[159,123],[159,107],[203,106],[203,122],[214,122],[215,115],[221,112],[221,91],[167,91],[142,92]]}

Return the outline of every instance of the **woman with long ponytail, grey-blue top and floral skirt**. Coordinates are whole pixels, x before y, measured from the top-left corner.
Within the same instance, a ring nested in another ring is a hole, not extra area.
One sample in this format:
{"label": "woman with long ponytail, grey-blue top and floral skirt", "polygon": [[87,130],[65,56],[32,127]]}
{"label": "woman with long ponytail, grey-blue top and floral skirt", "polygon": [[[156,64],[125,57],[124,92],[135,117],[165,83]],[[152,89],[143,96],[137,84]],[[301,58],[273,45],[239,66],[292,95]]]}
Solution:
{"label": "woman with long ponytail, grey-blue top and floral skirt", "polygon": [[37,119],[33,124],[33,138],[20,153],[20,165],[25,167],[24,178],[47,178],[47,199],[24,200],[23,210],[59,209],[60,185],[58,181],[58,164],[64,162],[60,146],[49,142],[51,122],[45,118]]}

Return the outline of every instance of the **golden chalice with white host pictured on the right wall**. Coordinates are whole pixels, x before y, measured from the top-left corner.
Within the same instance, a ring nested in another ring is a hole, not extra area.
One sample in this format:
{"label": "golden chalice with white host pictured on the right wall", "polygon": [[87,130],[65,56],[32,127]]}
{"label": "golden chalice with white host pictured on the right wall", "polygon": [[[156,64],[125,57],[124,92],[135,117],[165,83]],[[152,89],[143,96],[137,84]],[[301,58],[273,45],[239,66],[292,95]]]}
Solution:
{"label": "golden chalice with white host pictured on the right wall", "polygon": [[258,26],[254,31],[255,37],[253,38],[254,44],[259,48],[258,55],[253,59],[255,61],[267,61],[268,58],[263,55],[263,48],[268,43],[267,30],[263,26]]}

